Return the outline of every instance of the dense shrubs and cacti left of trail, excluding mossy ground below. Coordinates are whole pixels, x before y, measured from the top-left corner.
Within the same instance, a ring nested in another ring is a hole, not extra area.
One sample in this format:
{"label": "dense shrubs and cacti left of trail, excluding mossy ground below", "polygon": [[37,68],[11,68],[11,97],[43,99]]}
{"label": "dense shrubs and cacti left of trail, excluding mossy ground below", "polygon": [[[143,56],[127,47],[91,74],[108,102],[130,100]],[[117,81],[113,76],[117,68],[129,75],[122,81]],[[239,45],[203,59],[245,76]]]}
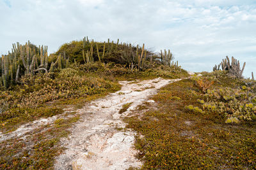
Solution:
{"label": "dense shrubs and cacti left of trail, excluding mossy ground below", "polygon": [[[172,59],[170,50],[160,57],[144,45],[98,43],[88,38],[66,43],[49,56],[47,46],[36,47],[29,41],[26,45],[13,44],[12,52],[0,59],[0,123],[4,129],[13,130],[15,124],[52,116],[45,111],[46,103],[117,90],[116,78],[122,76],[187,76],[186,71],[171,64]],[[49,111],[54,113],[52,107]]]}

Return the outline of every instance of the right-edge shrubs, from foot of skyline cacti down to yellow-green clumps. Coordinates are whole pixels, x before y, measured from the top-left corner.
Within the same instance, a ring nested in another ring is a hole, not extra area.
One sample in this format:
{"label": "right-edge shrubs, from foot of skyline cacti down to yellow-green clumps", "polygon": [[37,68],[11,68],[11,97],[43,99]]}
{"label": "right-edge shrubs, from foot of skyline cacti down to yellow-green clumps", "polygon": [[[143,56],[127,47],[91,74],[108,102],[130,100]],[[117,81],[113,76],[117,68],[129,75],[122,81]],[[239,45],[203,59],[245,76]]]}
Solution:
{"label": "right-edge shrubs, from foot of skyline cacti down to yellow-green clumps", "polygon": [[[199,98],[203,96],[207,101],[201,103],[204,111],[221,114],[226,118],[227,123],[256,120],[256,83],[254,81],[230,78],[225,71],[205,73],[202,78],[210,78],[217,82],[212,90],[208,89],[204,95],[197,95]],[[198,103],[200,101],[198,99]]]}

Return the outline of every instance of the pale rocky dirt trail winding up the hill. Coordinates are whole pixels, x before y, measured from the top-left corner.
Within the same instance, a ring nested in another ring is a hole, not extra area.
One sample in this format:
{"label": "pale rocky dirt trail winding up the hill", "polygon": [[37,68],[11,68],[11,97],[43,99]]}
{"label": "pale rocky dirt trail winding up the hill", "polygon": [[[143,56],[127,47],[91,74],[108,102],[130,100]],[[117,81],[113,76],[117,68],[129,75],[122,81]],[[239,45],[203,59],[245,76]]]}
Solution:
{"label": "pale rocky dirt trail winding up the hill", "polygon": [[[124,128],[122,117],[127,116],[139,104],[148,101],[157,89],[177,80],[156,78],[131,83],[120,81],[122,89],[103,99],[86,104],[77,111],[80,122],[72,127],[72,134],[61,141],[67,148],[56,159],[55,169],[128,169],[140,167],[142,163],[134,157],[135,132],[118,131]],[[154,101],[148,101],[154,102]],[[132,103],[127,111],[120,114],[124,104]]]}

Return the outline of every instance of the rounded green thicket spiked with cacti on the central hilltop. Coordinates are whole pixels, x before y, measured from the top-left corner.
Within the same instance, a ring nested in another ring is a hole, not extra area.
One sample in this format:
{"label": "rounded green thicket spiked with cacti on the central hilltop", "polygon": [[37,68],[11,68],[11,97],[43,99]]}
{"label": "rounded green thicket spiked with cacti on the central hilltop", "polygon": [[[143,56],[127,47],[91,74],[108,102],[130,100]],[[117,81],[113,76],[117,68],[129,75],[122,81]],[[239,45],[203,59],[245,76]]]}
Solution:
{"label": "rounded green thicket spiked with cacti on the central hilltop", "polygon": [[[54,55],[63,53],[65,53],[72,62],[74,62],[74,60],[80,64],[88,64],[93,61],[105,63],[115,62],[116,64],[129,67],[132,71],[134,69],[141,71],[156,64],[159,62],[159,59],[161,59],[157,54],[146,50],[144,44],[142,47],[139,45],[132,46],[126,43],[119,44],[119,39],[116,43],[114,43],[114,41],[110,42],[109,39],[108,43],[100,43],[93,40],[89,41],[88,38],[83,38],[83,41],[65,43]],[[175,66],[179,69],[178,62],[175,64],[170,63],[173,59],[170,50],[168,54],[166,53],[164,56],[165,57],[162,57],[162,64]],[[166,64],[167,62],[169,64]]]}

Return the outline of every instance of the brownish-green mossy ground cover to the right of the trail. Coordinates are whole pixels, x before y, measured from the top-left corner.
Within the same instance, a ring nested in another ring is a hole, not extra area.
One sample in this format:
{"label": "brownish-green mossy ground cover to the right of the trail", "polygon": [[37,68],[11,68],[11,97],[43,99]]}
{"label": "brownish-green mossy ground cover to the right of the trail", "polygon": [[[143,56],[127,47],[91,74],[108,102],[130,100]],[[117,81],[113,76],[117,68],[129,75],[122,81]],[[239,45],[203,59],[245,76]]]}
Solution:
{"label": "brownish-green mossy ground cover to the right of the trail", "polygon": [[[210,89],[236,85],[226,77]],[[202,109],[201,94],[193,80],[177,81],[152,97],[157,106],[145,103],[125,118],[138,132],[142,169],[256,169],[256,122],[225,124],[221,113],[187,109]]]}

